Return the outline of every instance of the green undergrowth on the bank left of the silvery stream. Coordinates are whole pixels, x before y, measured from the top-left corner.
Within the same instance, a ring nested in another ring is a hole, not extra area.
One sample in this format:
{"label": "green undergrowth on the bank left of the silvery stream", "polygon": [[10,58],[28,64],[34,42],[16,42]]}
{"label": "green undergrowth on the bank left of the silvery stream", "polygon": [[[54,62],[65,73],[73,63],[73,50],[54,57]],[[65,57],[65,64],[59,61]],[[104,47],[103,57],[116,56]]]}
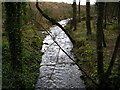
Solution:
{"label": "green undergrowth on the bank left of the silvery stream", "polygon": [[[16,89],[16,80],[19,77],[23,87],[26,90],[33,90],[37,82],[39,75],[39,68],[41,62],[42,53],[40,52],[42,48],[42,40],[44,35],[37,31],[36,28],[32,26],[24,26],[23,28],[23,52],[22,52],[22,72],[15,72],[11,67],[10,61],[10,51],[9,43],[7,40],[7,35],[4,32],[3,45],[2,45],[2,81],[3,89]],[[35,30],[35,31],[34,31]],[[36,33],[39,33],[36,35]],[[38,40],[38,37],[39,40]]]}

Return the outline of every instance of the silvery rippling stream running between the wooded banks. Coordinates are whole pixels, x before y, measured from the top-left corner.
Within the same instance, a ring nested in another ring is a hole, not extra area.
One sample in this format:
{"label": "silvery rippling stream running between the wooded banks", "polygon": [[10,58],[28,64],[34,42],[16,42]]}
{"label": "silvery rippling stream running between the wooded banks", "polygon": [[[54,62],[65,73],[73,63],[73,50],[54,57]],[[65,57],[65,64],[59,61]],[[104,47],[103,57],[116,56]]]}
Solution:
{"label": "silvery rippling stream running between the wooded banks", "polygon": [[[62,20],[59,23],[64,27],[70,19]],[[50,28],[53,39],[66,51],[72,58],[73,44],[56,25]],[[82,74],[74,62],[54,43],[50,35],[43,41],[42,62],[40,74],[35,90],[85,90],[84,82],[81,80]]]}

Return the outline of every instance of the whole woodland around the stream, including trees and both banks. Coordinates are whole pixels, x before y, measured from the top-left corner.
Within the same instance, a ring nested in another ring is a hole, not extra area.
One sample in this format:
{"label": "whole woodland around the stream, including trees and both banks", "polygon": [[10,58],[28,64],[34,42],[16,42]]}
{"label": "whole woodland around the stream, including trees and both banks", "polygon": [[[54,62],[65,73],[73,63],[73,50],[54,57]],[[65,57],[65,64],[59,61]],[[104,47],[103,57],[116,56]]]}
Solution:
{"label": "whole woodland around the stream, including trees and both banks", "polygon": [[[120,2],[80,3],[2,2],[3,90],[35,89],[48,35],[42,32],[52,25],[73,43],[86,90],[120,90]],[[65,27],[58,23],[67,18]]]}

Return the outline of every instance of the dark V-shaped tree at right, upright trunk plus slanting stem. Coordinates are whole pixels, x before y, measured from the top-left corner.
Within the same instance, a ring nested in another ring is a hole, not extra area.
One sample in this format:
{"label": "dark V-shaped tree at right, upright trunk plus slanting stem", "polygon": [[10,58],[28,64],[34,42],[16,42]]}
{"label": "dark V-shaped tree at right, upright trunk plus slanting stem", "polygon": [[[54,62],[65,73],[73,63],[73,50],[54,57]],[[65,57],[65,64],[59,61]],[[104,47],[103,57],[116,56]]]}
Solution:
{"label": "dark V-shaped tree at right, upright trunk plus slanting stem", "polygon": [[[97,3],[97,61],[98,61],[98,78],[99,78],[99,87],[101,88],[110,88],[111,87],[111,80],[109,79],[109,76],[111,75],[113,65],[115,63],[119,46],[120,46],[120,34],[117,37],[116,44],[114,47],[113,55],[111,58],[111,61],[109,63],[108,69],[106,72],[104,72],[103,69],[103,16],[104,16],[104,2],[98,2]],[[119,18],[119,15],[118,15]],[[118,20],[119,25],[119,20]]]}

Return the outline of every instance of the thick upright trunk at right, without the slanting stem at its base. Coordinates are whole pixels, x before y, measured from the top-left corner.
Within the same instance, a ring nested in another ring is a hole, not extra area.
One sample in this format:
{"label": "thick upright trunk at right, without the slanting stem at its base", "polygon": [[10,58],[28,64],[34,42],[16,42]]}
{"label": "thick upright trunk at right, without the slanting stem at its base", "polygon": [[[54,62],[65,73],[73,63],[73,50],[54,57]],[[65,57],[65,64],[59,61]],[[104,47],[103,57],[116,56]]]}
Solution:
{"label": "thick upright trunk at right, without the slanting stem at its base", "polygon": [[99,86],[102,87],[104,79],[103,79],[103,15],[104,15],[104,3],[97,3],[97,70],[98,70],[98,78],[99,78]]}

